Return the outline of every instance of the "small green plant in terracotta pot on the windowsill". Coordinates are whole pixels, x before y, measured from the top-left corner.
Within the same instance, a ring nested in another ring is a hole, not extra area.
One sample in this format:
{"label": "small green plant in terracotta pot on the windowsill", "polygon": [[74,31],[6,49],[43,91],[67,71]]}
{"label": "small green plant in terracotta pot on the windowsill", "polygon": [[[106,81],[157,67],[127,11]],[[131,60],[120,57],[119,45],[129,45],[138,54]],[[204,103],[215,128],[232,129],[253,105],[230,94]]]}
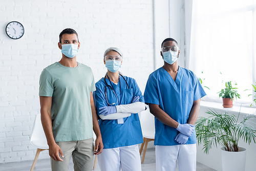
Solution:
{"label": "small green plant in terracotta pot on the windowsill", "polygon": [[[235,83],[235,85],[237,85],[237,83]],[[224,108],[232,108],[233,106],[233,98],[236,97],[240,98],[240,94],[238,94],[237,89],[238,88],[233,88],[231,81],[228,81],[225,83],[226,88],[225,89],[221,89],[219,94],[219,97],[222,97],[223,100],[223,107]]]}

